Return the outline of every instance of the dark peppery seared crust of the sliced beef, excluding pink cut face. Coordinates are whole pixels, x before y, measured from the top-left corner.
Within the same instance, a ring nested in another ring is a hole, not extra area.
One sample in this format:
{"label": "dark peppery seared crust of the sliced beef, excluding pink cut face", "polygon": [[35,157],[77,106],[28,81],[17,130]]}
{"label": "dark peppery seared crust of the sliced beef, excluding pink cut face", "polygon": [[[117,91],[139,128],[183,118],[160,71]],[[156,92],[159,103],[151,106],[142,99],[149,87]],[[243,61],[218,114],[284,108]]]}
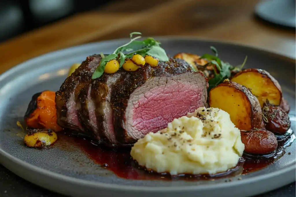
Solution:
{"label": "dark peppery seared crust of the sliced beef, excluding pink cut face", "polygon": [[[120,68],[114,74],[103,73],[101,77],[91,79],[100,60],[101,57],[98,55],[88,57],[65,80],[56,94],[57,116],[58,123],[63,128],[84,132],[93,136],[98,142],[110,146],[131,145],[136,141],[128,136],[125,128],[125,110],[130,95],[136,88],[152,77],[171,77],[193,72],[184,60],[170,58],[167,62],[159,62],[154,68],[148,64],[134,72]],[[208,87],[207,78],[202,73],[201,75]],[[91,125],[90,121],[88,109],[90,99],[95,108],[96,127]],[[72,102],[75,102],[75,111],[72,110],[70,113],[69,104]],[[73,115],[73,112],[78,117],[78,124],[81,125],[70,123],[69,115]]]}

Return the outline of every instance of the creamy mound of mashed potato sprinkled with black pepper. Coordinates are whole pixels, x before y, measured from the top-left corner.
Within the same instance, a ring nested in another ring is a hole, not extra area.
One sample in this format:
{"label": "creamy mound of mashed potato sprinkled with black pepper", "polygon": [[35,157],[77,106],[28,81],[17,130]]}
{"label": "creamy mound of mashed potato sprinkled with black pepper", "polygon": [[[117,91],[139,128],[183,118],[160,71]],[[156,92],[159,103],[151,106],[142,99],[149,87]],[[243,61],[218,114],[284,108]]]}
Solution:
{"label": "creamy mound of mashed potato sprinkled with black pepper", "polygon": [[235,167],[243,151],[240,131],[227,112],[198,108],[139,139],[131,156],[157,172],[214,174]]}

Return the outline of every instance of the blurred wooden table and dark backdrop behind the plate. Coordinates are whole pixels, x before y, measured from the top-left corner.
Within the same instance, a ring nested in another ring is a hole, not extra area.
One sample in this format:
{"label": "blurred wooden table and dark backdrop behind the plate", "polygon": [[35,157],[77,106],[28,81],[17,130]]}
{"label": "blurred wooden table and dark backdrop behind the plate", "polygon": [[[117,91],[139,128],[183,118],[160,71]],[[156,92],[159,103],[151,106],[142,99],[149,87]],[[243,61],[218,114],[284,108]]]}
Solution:
{"label": "blurred wooden table and dark backdrop behind the plate", "polygon": [[133,31],[230,41],[295,58],[295,18],[295,0],[0,0],[0,73]]}

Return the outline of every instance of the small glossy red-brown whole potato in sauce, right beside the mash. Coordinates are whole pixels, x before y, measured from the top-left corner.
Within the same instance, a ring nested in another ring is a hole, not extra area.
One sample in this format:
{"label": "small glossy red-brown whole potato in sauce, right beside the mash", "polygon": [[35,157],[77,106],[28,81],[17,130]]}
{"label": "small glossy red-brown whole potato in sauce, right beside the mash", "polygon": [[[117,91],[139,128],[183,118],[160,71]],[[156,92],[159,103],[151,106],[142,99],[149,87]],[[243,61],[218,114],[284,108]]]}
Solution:
{"label": "small glossy red-brown whole potato in sauce, right beside the mash", "polygon": [[274,133],[265,129],[241,130],[241,140],[244,144],[244,152],[249,154],[269,154],[278,146]]}

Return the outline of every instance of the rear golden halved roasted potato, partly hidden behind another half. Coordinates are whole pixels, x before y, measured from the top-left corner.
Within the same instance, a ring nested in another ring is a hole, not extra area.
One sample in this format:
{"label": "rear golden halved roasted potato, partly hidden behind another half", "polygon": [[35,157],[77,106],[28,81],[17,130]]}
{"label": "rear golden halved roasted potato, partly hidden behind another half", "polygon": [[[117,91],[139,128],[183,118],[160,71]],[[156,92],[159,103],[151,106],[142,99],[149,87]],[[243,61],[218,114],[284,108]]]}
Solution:
{"label": "rear golden halved roasted potato, partly hidden behind another half", "polygon": [[279,105],[281,103],[281,86],[265,70],[245,69],[232,77],[231,81],[249,88],[252,94],[258,98],[261,108],[263,108],[266,99],[273,105]]}

